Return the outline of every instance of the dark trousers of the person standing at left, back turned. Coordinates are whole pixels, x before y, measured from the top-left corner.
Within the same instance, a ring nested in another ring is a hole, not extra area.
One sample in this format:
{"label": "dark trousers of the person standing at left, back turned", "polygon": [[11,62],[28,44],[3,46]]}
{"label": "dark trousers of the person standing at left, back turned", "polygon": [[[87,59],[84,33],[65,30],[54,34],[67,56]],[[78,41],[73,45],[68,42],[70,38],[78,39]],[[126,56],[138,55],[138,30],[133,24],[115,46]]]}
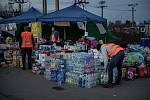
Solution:
{"label": "dark trousers of the person standing at left, back turned", "polygon": [[23,69],[26,68],[26,55],[28,56],[28,69],[32,68],[32,48],[23,48],[21,49],[22,53],[22,63],[23,63]]}

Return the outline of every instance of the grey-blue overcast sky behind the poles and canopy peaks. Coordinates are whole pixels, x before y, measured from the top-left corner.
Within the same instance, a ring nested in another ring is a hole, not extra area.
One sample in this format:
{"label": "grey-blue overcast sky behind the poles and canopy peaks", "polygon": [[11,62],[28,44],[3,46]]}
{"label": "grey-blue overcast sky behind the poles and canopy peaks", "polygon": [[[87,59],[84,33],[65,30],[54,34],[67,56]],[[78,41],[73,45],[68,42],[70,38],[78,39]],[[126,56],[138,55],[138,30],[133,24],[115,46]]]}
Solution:
{"label": "grey-blue overcast sky behind the poles and canopy peaks", "polygon": [[[0,0],[1,5],[5,5],[7,0]],[[42,11],[42,1],[43,0],[29,0],[31,6]],[[60,9],[68,7],[73,4],[74,0],[59,0]],[[100,0],[87,0],[89,4],[86,5],[86,10],[101,16],[101,9],[96,8]],[[55,0],[47,0],[48,2],[48,12],[55,10]],[[131,7],[128,4],[138,3],[139,5],[135,7],[135,21],[141,22],[144,20],[150,20],[150,0],[106,0],[107,8],[104,9],[104,17],[108,21],[115,20],[131,20]],[[24,5],[24,9],[29,8],[29,3]]]}

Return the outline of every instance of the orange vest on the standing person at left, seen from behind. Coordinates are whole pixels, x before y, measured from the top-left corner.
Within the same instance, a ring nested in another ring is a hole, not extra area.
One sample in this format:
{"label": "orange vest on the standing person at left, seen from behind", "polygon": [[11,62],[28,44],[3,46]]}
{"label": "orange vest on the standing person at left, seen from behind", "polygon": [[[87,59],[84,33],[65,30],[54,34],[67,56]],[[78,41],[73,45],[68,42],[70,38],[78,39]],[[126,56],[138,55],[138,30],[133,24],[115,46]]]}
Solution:
{"label": "orange vest on the standing person at left, seen from behind", "polygon": [[31,32],[22,32],[21,37],[22,37],[22,45],[21,45],[22,48],[33,48]]}

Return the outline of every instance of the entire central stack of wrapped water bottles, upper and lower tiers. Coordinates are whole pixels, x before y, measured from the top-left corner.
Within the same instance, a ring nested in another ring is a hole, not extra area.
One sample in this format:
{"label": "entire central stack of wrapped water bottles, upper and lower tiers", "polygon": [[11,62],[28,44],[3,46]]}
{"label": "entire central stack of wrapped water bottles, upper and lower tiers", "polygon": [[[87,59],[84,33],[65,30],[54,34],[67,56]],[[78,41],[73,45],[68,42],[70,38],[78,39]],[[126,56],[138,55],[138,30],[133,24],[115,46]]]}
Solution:
{"label": "entire central stack of wrapped water bottles, upper and lower tiers", "polygon": [[62,55],[67,61],[67,83],[88,88],[100,84],[100,73],[98,71],[100,68],[96,67],[101,66],[94,66],[94,58],[91,54],[80,52]]}

